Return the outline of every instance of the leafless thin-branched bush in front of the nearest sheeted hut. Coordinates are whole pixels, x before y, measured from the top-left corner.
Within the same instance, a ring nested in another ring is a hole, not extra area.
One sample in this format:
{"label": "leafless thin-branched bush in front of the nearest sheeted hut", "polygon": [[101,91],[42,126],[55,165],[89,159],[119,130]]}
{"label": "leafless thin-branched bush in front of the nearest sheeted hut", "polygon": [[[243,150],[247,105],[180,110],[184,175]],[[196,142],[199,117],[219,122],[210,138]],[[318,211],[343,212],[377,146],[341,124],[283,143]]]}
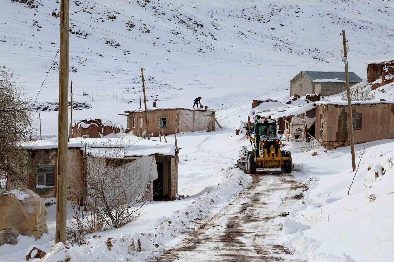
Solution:
{"label": "leafless thin-branched bush in front of the nearest sheeted hut", "polygon": [[[75,156],[84,158],[86,168],[69,165],[74,176],[68,182],[70,191],[74,191],[85,210],[90,212],[89,222],[84,223],[86,232],[100,230],[104,224],[122,227],[141,216],[141,207],[151,199],[147,186],[151,186],[152,181],[145,181],[142,176],[141,162],[123,158],[124,148],[123,140],[107,140],[84,149],[85,152],[94,150],[96,157]],[[82,196],[78,192],[86,194]]]}

